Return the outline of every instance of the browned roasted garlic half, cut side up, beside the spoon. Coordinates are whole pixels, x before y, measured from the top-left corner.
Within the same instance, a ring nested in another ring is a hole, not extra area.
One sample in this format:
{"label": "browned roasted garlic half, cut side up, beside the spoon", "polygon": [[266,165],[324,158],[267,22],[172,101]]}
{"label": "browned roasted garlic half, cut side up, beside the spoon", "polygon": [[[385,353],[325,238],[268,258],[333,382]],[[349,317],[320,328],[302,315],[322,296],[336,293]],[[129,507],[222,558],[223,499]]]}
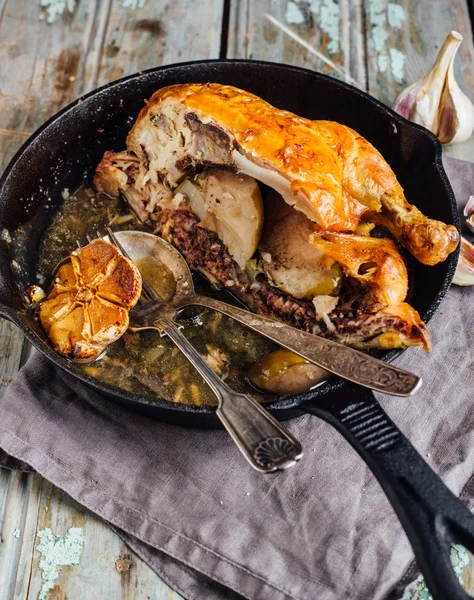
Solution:
{"label": "browned roasted garlic half, cut side up, beside the spoon", "polygon": [[135,265],[112,244],[94,240],[74,251],[56,273],[39,317],[54,348],[75,360],[93,359],[128,327],[141,294]]}

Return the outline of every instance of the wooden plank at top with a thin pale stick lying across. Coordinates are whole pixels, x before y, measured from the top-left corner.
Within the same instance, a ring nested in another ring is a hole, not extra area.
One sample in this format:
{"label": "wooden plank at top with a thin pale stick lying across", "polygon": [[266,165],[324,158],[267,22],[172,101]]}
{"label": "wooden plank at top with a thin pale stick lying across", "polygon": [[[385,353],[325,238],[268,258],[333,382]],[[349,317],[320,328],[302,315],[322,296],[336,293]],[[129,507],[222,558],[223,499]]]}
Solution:
{"label": "wooden plank at top with a thin pale stick lying across", "polygon": [[283,26],[365,87],[362,6],[355,0],[242,0],[231,4],[228,57],[268,60],[315,69],[341,78],[310,50],[284,33]]}

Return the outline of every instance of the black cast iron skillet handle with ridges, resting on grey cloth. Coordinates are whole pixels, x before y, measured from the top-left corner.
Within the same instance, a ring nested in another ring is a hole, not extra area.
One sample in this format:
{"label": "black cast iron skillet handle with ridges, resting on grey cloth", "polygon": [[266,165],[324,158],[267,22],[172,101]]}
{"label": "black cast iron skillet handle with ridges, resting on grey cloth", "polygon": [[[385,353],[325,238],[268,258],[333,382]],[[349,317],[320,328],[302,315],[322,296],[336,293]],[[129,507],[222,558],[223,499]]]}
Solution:
{"label": "black cast iron skillet handle with ridges, resting on grey cloth", "polygon": [[[350,394],[342,398],[342,394]],[[330,397],[332,396],[332,398]],[[431,470],[374,395],[345,387],[301,408],[335,427],[364,459],[392,504],[434,600],[471,598],[450,561],[453,543],[474,551],[474,515]]]}

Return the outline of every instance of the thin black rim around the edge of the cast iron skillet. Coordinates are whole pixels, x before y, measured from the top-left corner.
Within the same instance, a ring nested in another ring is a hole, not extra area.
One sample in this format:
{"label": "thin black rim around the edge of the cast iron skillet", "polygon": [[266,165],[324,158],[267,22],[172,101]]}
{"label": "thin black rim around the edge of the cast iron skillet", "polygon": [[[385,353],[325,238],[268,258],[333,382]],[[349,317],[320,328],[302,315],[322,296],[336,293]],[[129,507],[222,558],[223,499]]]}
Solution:
{"label": "thin black rim around the edge of the cast iron skillet", "polygon": [[[361,90],[351,84],[346,83],[345,81],[341,81],[331,75],[327,75],[324,73],[320,73],[318,71],[314,71],[312,69],[297,67],[294,65],[287,65],[278,62],[272,61],[261,61],[261,60],[245,60],[245,59],[206,59],[206,60],[195,60],[195,61],[186,61],[182,63],[172,63],[169,65],[161,65],[159,67],[152,67],[150,69],[146,69],[144,71],[138,71],[137,73],[133,73],[131,75],[127,75],[115,81],[111,81],[106,83],[105,85],[91,90],[87,94],[80,96],[60,111],[52,115],[45,123],[43,123],[38,129],[36,129],[32,135],[21,145],[18,151],[14,154],[4,172],[0,177],[0,190],[3,188],[5,182],[7,181],[10,173],[14,169],[19,158],[27,151],[29,146],[41,136],[41,134],[48,129],[52,124],[54,124],[58,119],[60,119],[66,113],[76,109],[79,105],[87,101],[88,99],[97,96],[99,94],[103,94],[107,92],[109,89],[112,89],[116,86],[119,86],[128,81],[132,81],[134,79],[139,79],[141,77],[146,77],[149,74],[158,73],[161,71],[167,71],[172,69],[182,69],[187,67],[203,67],[205,65],[243,65],[245,66],[261,66],[265,70],[268,68],[278,67],[279,69],[284,69],[286,71],[296,71],[298,73],[304,73],[306,75],[310,75],[319,80],[330,81],[332,85],[339,86],[346,92],[350,92],[351,94],[357,94],[361,97],[364,102],[370,103],[377,110],[387,114],[392,119],[394,119],[398,124],[402,124],[405,127],[411,128],[415,131],[418,131],[419,134],[425,136],[428,142],[433,147],[433,160],[430,164],[432,164],[438,175],[441,178],[442,183],[444,184],[444,189],[446,190],[447,197],[449,199],[451,215],[453,220],[453,225],[460,232],[460,218],[458,214],[456,199],[454,196],[454,192],[451,188],[451,184],[447,177],[446,171],[444,170],[444,166],[442,163],[442,145],[438,138],[431,133],[425,127],[418,125],[416,123],[412,123],[411,121],[405,119],[398,113],[396,113],[392,108],[381,102],[380,100],[374,98],[369,95],[366,91]],[[145,101],[145,99],[144,99]],[[449,289],[451,281],[454,277],[454,273],[456,270],[458,255],[460,252],[460,247],[458,248],[446,259],[447,270],[446,275],[444,277],[443,285],[439,288],[436,296],[433,299],[429,309],[423,315],[423,320],[425,322],[429,322],[434,315],[434,313],[439,308],[440,303],[442,302],[446,292]],[[96,379],[92,376],[87,375],[83,371],[74,371],[72,372],[72,363],[68,361],[66,358],[60,356],[56,351],[47,346],[42,340],[38,342],[38,337],[35,333],[28,327],[25,321],[20,316],[20,311],[17,311],[11,307],[0,305],[0,314],[4,314],[7,318],[11,319],[19,328],[22,330],[26,338],[32,343],[32,345],[39,350],[42,354],[44,354],[47,358],[49,358],[55,365],[59,366],[63,371],[70,373],[74,377],[77,377],[79,380],[82,380],[86,385],[94,388],[94,390],[98,393],[105,393],[108,396],[114,396],[117,399],[121,398],[127,400],[128,402],[132,402],[135,405],[139,405],[142,407],[151,407],[156,408],[157,410],[166,410],[173,413],[186,412],[186,413],[194,413],[196,415],[209,415],[215,413],[215,407],[213,406],[194,406],[189,404],[182,403],[174,403],[168,400],[164,400],[163,398],[155,398],[153,401],[147,401],[146,396],[142,396],[139,394],[134,394],[132,392],[128,392],[122,388],[107,384],[106,382],[102,382],[99,379]],[[380,356],[382,360],[385,362],[391,362],[397,356],[399,356],[404,350],[390,350],[383,353]],[[347,382],[342,378],[329,378],[328,381],[323,382],[321,386],[317,386],[313,390],[306,392],[304,394],[298,394],[296,396],[282,396],[273,400],[270,400],[265,403],[265,407],[273,412],[278,412],[280,410],[285,411],[288,409],[297,408],[300,404],[305,402],[309,402],[310,400],[314,400],[317,396],[322,393],[323,395],[331,393],[332,391],[343,388],[347,385]],[[322,388],[322,389],[320,389]]]}

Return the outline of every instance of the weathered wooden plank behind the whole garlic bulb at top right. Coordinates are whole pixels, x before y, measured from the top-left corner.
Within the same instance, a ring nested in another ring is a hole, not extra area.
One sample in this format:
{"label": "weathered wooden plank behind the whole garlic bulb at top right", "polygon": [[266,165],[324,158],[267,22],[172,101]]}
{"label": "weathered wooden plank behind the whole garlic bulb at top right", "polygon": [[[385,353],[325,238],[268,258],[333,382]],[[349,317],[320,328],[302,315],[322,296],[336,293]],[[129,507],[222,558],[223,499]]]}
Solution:
{"label": "weathered wooden plank behind the whole garlic bulb at top right", "polygon": [[[394,8],[395,7],[395,8]],[[365,0],[368,89],[392,105],[409,84],[424,77],[433,66],[445,37],[452,30],[464,36],[455,73],[464,92],[474,99],[474,46],[465,0]],[[474,137],[444,146],[448,156],[472,160]]]}

